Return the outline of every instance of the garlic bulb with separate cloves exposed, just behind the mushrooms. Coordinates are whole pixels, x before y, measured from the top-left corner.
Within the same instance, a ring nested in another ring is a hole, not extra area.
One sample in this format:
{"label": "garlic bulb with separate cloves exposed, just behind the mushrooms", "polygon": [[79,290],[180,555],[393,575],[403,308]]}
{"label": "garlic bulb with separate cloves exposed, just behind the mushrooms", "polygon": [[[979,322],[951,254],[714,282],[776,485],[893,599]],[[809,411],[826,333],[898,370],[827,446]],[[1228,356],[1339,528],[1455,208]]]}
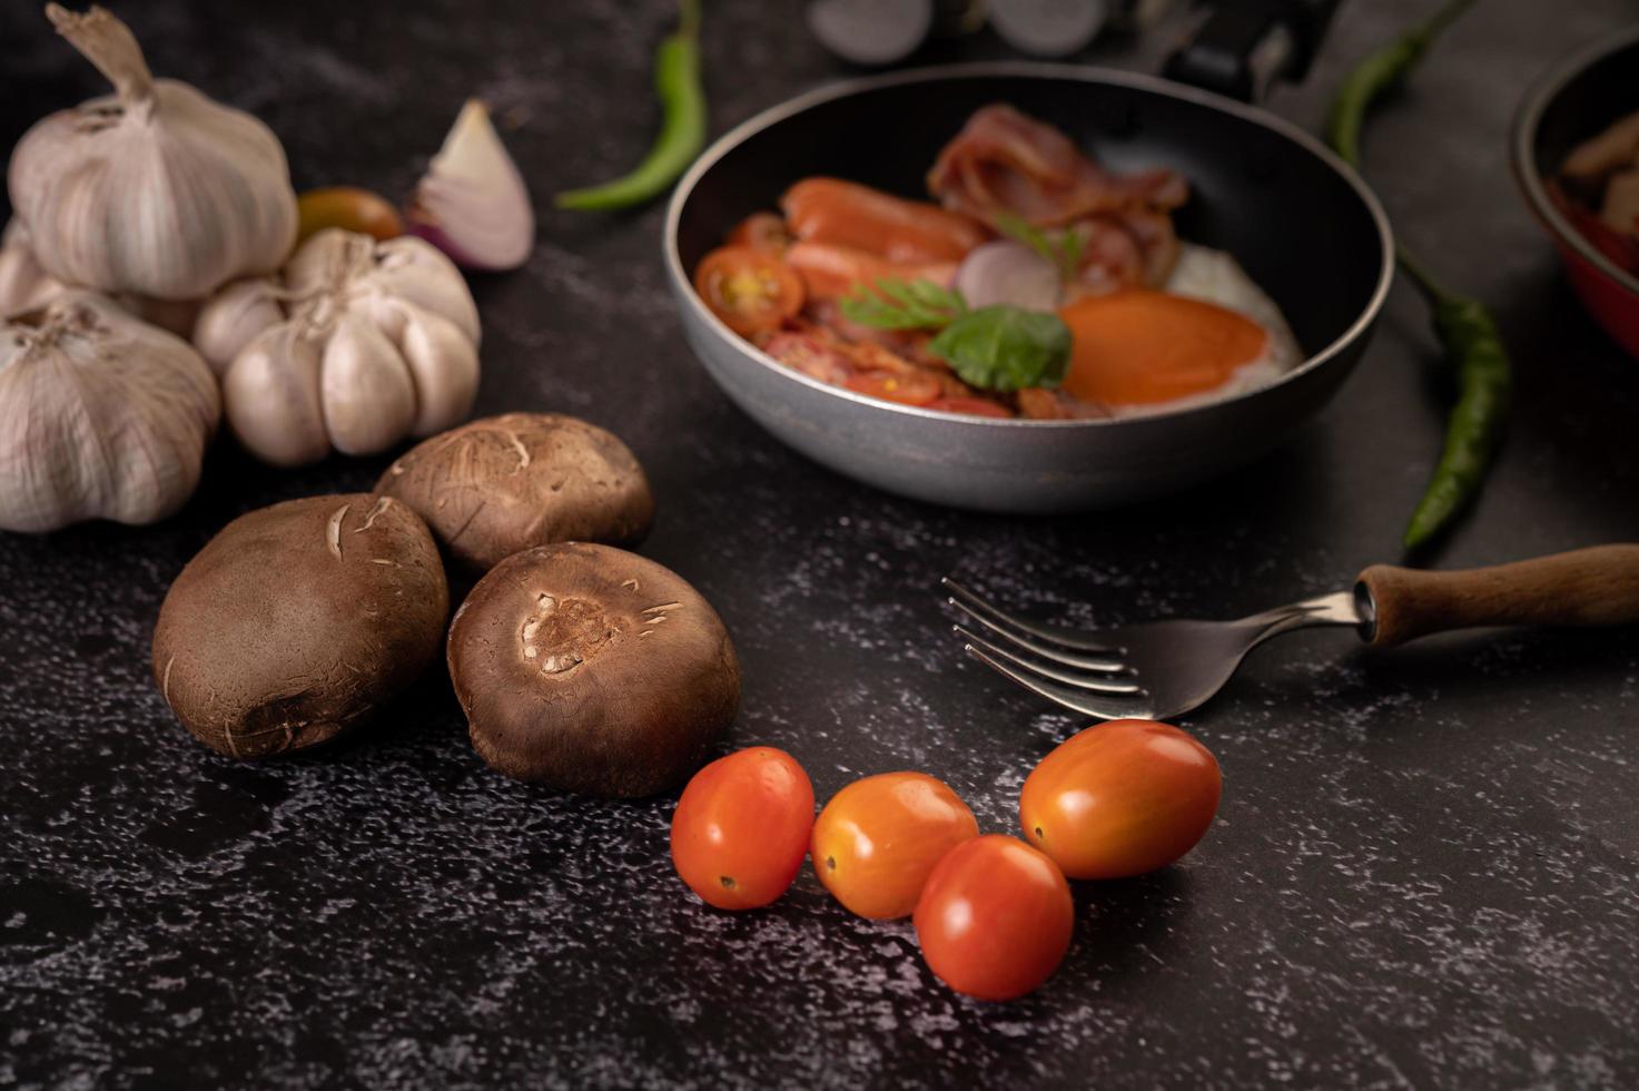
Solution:
{"label": "garlic bulb with separate cloves exposed, just behind the mushrooms", "polygon": [[262,461],[374,454],[465,420],[479,390],[479,308],[449,258],[413,236],[326,228],[275,277],[205,304],[193,343],[228,423]]}

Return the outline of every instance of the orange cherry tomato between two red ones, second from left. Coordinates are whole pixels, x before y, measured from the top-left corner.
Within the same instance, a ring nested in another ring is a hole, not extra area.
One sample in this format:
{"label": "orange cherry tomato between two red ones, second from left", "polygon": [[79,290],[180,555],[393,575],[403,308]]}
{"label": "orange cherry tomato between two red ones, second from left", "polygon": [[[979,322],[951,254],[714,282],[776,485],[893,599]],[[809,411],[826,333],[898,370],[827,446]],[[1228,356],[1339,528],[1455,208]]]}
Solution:
{"label": "orange cherry tomato between two red ones, second from left", "polygon": [[956,792],[926,773],[882,773],[854,781],[815,822],[815,873],[860,917],[887,920],[916,909],[939,858],[978,837]]}

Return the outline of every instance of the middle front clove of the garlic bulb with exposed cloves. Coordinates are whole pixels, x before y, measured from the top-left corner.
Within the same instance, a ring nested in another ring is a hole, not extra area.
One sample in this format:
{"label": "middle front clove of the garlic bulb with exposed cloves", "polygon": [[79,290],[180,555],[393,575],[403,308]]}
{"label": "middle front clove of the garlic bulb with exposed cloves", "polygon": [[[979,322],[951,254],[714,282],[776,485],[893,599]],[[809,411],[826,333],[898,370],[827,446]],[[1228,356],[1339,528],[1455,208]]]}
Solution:
{"label": "middle front clove of the garlic bulb with exposed cloves", "polygon": [[325,425],[343,454],[385,451],[410,431],[415,384],[393,343],[357,315],[343,315],[325,346]]}

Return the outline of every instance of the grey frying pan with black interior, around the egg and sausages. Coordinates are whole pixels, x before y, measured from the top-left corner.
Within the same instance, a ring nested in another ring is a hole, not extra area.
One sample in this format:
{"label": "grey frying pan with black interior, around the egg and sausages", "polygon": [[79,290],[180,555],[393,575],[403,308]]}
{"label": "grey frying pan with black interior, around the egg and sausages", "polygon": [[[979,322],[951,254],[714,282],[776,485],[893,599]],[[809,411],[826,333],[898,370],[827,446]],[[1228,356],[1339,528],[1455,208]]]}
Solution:
{"label": "grey frying pan with black interior, around the egg and sausages", "polygon": [[[1274,295],[1308,359],[1262,390],[1121,420],[997,420],[895,405],[798,374],[695,295],[695,264],[797,179],[829,174],[924,195],[977,108],[1006,102],[1115,169],[1165,166],[1192,185],[1178,235],[1226,249]],[[1252,107],[1129,72],[964,64],[857,79],[765,110],[679,182],[664,256],[685,336],[757,423],[888,492],[993,512],[1065,512],[1169,492],[1251,463],[1337,392],[1393,276],[1388,220],[1365,184],[1301,130]]]}

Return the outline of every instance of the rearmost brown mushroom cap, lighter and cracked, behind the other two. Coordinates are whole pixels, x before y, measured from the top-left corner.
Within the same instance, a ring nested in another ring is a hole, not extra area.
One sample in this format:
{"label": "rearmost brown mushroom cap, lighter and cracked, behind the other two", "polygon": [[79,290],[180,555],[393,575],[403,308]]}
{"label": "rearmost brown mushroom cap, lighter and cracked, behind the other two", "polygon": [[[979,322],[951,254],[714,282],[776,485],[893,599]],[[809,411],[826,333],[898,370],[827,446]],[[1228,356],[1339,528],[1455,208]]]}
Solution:
{"label": "rearmost brown mushroom cap, lighter and cracked, behind the other two", "polygon": [[649,479],[616,436],[562,413],[487,417],[425,440],[375,491],[408,504],[474,571],[554,541],[636,545],[654,523]]}

